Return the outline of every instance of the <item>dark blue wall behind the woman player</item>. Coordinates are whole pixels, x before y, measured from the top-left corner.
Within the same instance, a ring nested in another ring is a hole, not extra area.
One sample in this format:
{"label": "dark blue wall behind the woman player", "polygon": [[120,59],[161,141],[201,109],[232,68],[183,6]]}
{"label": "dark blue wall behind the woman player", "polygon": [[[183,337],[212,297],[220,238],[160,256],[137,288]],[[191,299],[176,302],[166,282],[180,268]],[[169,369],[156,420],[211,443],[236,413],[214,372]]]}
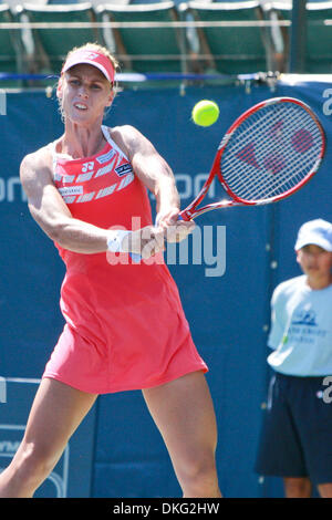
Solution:
{"label": "dark blue wall behind the woman player", "polygon": [[[332,138],[328,89],[329,83],[298,81],[280,82],[276,92],[264,85],[250,92],[240,85],[188,87],[183,95],[176,89],[124,91],[106,124],[133,124],[155,144],[178,176],[185,207],[193,197],[189,185],[208,173],[225,131],[263,98],[302,98]],[[191,107],[200,98],[220,106],[220,118],[209,128],[190,122]],[[62,124],[55,100],[43,93],[9,94],[7,110],[0,116],[0,375],[40,377],[63,326],[59,290],[64,270],[52,242],[32,221],[17,181],[22,157],[60,136]],[[332,219],[331,153],[328,145],[319,174],[293,197],[269,207],[214,211],[197,221],[226,226],[222,277],[207,277],[207,266],[169,266],[194,340],[210,368],[218,471],[226,497],[280,493],[278,481],[259,483],[252,471],[268,379],[269,300],[279,281],[299,273],[293,253],[299,226],[311,218]],[[277,268],[271,268],[272,261]],[[91,495],[180,496],[141,393],[102,396],[95,408]]]}

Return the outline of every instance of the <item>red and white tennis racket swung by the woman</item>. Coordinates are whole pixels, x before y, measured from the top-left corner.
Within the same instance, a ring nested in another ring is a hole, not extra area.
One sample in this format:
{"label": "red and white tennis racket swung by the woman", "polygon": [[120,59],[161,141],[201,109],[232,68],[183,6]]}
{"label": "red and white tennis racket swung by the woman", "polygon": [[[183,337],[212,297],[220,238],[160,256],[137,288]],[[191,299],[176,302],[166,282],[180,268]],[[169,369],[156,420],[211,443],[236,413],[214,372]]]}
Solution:
{"label": "red and white tennis racket swung by the woman", "polygon": [[[191,220],[212,209],[289,197],[318,171],[324,150],[324,131],[305,103],[292,97],[258,103],[225,134],[207,180],[179,218]],[[226,198],[197,208],[215,178]]]}

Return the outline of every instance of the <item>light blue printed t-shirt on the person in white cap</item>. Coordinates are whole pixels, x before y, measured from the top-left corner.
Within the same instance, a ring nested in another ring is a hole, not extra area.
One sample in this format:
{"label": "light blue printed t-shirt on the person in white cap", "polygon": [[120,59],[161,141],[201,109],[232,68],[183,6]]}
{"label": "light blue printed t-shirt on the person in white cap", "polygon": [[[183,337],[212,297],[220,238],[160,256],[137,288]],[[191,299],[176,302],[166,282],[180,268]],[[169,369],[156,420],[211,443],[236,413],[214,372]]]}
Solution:
{"label": "light blue printed t-shirt on the person in white cap", "polygon": [[332,285],[312,290],[307,277],[280,283],[271,300],[268,345],[271,367],[282,374],[332,374]]}

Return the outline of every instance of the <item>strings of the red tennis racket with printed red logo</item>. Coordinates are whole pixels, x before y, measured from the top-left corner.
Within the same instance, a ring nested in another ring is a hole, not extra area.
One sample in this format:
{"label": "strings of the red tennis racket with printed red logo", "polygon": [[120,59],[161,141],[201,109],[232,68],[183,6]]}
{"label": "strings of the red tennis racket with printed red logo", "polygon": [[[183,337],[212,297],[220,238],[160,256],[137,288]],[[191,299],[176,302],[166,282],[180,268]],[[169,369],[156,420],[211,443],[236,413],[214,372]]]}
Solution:
{"label": "strings of the red tennis racket with printed red logo", "polygon": [[240,199],[267,199],[301,183],[314,169],[321,148],[320,128],[305,108],[277,103],[255,112],[234,131],[220,169]]}

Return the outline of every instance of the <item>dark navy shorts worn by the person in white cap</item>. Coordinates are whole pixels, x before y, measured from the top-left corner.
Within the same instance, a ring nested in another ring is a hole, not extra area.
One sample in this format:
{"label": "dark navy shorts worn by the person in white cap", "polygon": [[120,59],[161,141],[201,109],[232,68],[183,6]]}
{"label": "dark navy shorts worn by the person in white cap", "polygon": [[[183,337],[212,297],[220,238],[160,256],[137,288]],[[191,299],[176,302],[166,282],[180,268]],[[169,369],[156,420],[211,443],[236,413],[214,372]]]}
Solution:
{"label": "dark navy shorts worn by the person in white cap", "polygon": [[332,482],[331,383],[276,373],[270,382],[255,470]]}

